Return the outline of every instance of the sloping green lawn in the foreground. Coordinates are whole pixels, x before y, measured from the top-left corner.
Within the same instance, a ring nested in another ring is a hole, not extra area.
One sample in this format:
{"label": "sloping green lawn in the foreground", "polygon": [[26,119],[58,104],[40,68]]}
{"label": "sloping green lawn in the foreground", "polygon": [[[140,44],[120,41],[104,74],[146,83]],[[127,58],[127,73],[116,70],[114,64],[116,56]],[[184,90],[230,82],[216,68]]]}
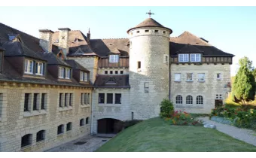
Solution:
{"label": "sloping green lawn in the foreground", "polygon": [[96,152],[256,151],[256,147],[202,126],[171,126],[159,117],[120,132]]}

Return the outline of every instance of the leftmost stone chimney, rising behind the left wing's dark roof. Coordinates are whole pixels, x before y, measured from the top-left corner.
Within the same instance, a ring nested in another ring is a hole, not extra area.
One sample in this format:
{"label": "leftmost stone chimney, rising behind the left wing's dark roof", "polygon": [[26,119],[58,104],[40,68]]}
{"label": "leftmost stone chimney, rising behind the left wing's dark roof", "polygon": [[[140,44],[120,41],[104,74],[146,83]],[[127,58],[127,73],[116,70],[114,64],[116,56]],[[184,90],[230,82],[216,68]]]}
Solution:
{"label": "leftmost stone chimney, rising behind the left wing's dark roof", "polygon": [[52,51],[51,37],[54,32],[50,29],[39,29],[39,32],[39,45],[44,49],[45,52],[50,53]]}

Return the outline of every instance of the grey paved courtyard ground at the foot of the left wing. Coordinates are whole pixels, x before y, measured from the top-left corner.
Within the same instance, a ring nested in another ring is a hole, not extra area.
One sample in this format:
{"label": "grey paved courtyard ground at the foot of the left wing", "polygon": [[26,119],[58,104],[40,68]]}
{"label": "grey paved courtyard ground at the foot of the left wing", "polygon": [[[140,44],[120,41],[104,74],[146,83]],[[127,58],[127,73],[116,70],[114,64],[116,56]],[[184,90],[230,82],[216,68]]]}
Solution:
{"label": "grey paved courtyard ground at the foot of the left wing", "polygon": [[[76,139],[75,141],[69,141],[68,143],[59,145],[58,147],[53,147],[50,150],[46,150],[44,152],[93,152],[102,144],[105,144],[111,138],[99,138],[96,136],[84,136]],[[105,140],[105,141],[102,141]],[[75,144],[78,141],[86,142],[84,144]]]}

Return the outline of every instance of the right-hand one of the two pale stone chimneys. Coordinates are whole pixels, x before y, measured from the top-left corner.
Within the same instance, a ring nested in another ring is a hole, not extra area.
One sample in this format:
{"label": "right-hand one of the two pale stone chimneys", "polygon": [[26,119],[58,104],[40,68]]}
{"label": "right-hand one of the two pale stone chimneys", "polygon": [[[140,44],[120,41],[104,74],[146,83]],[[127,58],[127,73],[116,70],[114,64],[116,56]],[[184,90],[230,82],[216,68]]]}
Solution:
{"label": "right-hand one of the two pale stone chimneys", "polygon": [[62,48],[64,53],[64,58],[66,59],[67,54],[69,53],[69,28],[59,28],[59,47]]}

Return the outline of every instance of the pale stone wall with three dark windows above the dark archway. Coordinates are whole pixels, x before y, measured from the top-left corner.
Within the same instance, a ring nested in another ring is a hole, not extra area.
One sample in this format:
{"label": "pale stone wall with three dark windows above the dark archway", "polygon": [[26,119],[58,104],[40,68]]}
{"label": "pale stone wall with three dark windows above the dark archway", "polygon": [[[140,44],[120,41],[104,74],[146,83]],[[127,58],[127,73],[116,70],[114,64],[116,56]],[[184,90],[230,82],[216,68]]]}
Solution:
{"label": "pale stone wall with three dark windows above the dark archway", "polygon": [[[105,104],[99,104],[99,93],[105,93]],[[121,93],[121,104],[106,104],[107,93]],[[130,111],[130,90],[101,88],[93,90],[93,134],[97,133],[97,120],[104,118],[112,118],[117,120],[131,120],[132,114]]]}

